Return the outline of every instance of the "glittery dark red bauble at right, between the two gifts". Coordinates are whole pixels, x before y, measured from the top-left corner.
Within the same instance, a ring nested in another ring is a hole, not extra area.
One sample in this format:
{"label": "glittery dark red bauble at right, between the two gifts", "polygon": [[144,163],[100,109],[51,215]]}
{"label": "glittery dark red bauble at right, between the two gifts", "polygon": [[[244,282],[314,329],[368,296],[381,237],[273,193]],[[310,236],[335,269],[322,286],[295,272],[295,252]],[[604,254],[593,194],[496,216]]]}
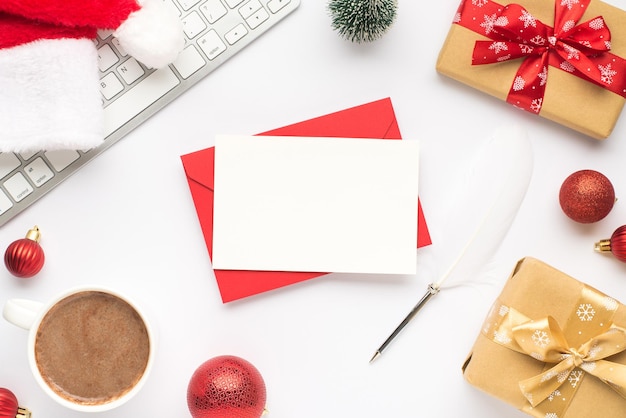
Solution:
{"label": "glittery dark red bauble at right, between the two gifts", "polygon": [[611,181],[594,170],[580,170],[565,179],[559,192],[563,212],[576,222],[593,223],[609,214],[615,204]]}

